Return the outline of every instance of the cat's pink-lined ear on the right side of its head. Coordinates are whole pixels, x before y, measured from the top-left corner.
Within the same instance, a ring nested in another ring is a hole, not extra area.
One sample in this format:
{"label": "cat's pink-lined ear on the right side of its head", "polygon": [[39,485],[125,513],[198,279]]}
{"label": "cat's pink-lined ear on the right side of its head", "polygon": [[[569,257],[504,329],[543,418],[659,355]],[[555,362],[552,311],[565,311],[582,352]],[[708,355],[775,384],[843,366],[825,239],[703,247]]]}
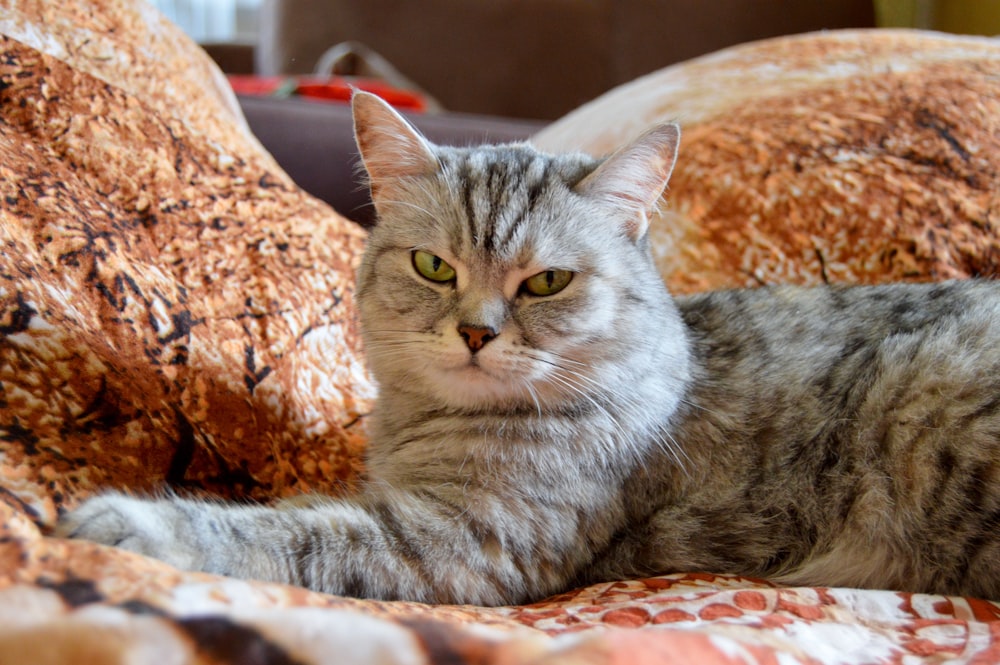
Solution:
{"label": "cat's pink-lined ear on the right side of its head", "polygon": [[646,233],[649,213],[670,180],[680,140],[678,125],[657,125],[608,157],[576,191],[626,208],[630,214],[625,232],[638,240]]}

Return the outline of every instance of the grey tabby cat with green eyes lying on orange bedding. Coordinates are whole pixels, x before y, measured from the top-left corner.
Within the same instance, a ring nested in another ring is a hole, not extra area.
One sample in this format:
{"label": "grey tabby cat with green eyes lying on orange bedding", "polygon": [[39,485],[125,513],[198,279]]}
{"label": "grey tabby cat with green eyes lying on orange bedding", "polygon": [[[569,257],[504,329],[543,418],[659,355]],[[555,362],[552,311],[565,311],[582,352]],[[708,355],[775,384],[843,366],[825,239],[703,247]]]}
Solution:
{"label": "grey tabby cat with green eyes lying on orange bedding", "polygon": [[673,299],[679,131],[601,162],[428,144],[354,98],[379,224],[368,481],[294,506],[94,498],[59,530],[369,598],[520,603],[708,570],[1000,598],[1000,289]]}

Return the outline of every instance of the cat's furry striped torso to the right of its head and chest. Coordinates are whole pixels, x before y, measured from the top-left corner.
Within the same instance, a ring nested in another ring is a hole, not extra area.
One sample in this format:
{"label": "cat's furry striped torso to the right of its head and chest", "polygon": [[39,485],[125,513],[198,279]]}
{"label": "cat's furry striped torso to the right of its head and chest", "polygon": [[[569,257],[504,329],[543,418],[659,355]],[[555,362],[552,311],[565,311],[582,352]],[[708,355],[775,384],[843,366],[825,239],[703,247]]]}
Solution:
{"label": "cat's furry striped torso to the right of its head and chest", "polygon": [[677,435],[711,458],[704,484],[731,490],[685,501],[748,511],[734,569],[1000,593],[1000,282],[735,290],[678,307],[699,378]]}

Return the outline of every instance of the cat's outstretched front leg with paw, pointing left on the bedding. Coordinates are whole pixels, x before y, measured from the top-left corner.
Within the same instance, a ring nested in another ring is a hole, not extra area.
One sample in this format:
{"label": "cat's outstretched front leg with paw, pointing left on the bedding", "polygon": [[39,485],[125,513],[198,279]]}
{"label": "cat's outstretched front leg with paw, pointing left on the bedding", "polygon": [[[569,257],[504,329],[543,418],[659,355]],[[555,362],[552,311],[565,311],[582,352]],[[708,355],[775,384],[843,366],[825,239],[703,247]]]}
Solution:
{"label": "cat's outstretched front leg with paw, pointing left on the bedding", "polygon": [[277,507],[106,494],[67,514],[57,535],[326,593],[478,605],[554,593],[589,558],[578,530],[556,528],[575,507],[468,492],[369,488]]}

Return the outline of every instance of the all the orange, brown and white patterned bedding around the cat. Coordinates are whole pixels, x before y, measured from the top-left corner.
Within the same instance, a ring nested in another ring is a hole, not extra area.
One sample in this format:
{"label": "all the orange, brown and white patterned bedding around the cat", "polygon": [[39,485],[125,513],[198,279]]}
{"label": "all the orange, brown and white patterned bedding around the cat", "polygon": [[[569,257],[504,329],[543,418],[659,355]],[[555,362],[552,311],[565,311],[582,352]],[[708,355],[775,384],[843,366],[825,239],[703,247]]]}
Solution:
{"label": "all the orange, brown and white patterned bedding around the cat", "polygon": [[[364,234],[289,180],[142,2],[0,0],[0,54],[0,663],[1000,660],[982,599],[689,571],[425,606],[49,537],[102,487],[350,492],[374,394]],[[601,151],[685,122],[657,222],[677,290],[993,274],[998,65],[988,40],[776,40],[613,91],[537,142]]]}

